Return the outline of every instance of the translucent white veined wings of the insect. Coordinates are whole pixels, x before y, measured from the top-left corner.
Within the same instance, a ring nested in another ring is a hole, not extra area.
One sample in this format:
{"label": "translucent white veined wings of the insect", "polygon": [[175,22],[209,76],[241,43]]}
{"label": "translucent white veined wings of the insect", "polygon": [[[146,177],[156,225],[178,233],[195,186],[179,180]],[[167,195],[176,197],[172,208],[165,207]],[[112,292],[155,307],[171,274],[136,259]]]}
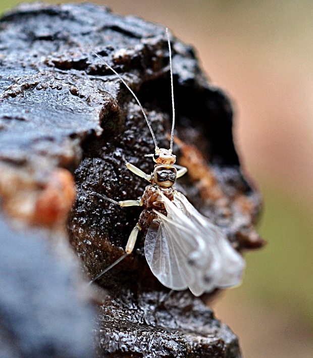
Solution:
{"label": "translucent white veined wings of the insect", "polygon": [[173,201],[162,197],[168,216],[157,213],[159,224],[153,222],[145,239],[152,273],[165,286],[189,287],[196,296],[238,284],[244,261],[219,228],[181,193]]}

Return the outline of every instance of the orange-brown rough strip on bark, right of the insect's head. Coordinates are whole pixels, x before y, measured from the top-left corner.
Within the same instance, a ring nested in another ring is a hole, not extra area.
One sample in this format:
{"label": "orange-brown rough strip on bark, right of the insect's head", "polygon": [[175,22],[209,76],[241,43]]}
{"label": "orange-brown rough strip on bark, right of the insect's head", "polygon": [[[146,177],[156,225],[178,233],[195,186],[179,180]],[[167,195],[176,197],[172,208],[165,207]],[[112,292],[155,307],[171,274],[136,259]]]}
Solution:
{"label": "orange-brown rough strip on bark, right of the insect's head", "polygon": [[174,137],[174,141],[179,145],[182,154],[179,164],[188,169],[188,175],[199,189],[203,201],[213,205],[216,212],[224,218],[232,220],[238,240],[236,248],[241,250],[262,247],[266,242],[260,238],[253,226],[259,210],[255,200],[240,191],[234,197],[227,196],[201,152],[177,137]]}

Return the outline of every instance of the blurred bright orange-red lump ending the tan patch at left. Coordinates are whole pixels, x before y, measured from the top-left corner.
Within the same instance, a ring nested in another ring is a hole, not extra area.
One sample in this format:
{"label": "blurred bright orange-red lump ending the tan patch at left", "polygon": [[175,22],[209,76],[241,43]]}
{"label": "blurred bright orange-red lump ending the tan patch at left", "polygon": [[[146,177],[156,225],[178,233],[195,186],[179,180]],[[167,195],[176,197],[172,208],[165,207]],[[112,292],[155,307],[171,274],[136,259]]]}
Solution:
{"label": "blurred bright orange-red lump ending the tan patch at left", "polygon": [[54,170],[37,197],[33,223],[54,226],[64,222],[75,197],[76,190],[72,174],[62,168]]}

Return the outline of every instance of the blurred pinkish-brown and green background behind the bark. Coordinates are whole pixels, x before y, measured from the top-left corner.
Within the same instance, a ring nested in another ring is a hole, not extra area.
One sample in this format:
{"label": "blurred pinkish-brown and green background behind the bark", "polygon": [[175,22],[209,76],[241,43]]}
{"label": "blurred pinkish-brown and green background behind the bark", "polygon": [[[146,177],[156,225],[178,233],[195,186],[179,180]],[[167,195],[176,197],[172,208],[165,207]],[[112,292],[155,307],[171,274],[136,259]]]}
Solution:
{"label": "blurred pinkish-brown and green background behind the bark", "polygon": [[[1,0],[0,11],[17,5]],[[57,3],[57,2],[50,2]],[[313,357],[313,2],[98,0],[168,26],[233,99],[244,167],[263,192],[243,284],[214,303],[246,358]]]}

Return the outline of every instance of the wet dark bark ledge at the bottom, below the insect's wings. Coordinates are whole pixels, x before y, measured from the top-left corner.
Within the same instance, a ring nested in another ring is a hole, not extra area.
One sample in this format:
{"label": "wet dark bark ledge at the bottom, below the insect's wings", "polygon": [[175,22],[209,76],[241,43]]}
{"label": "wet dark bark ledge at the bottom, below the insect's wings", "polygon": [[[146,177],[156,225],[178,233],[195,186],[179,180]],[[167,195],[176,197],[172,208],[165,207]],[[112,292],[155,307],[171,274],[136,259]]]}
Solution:
{"label": "wet dark bark ledge at the bottom, below the insect's wings", "polygon": [[127,291],[101,305],[99,356],[241,356],[234,333],[199,298],[188,292],[164,298],[163,292],[134,297]]}

